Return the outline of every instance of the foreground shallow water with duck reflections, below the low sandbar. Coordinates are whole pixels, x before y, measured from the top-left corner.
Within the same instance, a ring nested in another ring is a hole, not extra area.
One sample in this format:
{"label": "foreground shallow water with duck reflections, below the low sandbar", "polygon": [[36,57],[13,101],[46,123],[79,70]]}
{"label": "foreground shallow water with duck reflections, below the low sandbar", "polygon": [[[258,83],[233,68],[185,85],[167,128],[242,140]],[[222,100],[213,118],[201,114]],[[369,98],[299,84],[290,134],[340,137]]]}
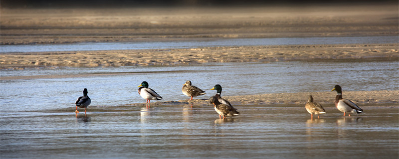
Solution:
{"label": "foreground shallow water with duck reflections, below the low sandbar", "polygon": [[364,108],[342,117],[334,107],[310,120],[302,106],[236,105],[220,120],[212,106],[92,106],[7,113],[6,158],[398,159],[399,108]]}

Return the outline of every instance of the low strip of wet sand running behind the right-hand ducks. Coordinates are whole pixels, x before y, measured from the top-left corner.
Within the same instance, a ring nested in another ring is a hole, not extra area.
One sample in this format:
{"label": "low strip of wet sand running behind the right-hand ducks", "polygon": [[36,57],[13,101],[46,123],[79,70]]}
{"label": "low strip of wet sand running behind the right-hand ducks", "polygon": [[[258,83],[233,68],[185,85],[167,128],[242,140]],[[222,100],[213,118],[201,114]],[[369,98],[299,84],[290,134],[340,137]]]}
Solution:
{"label": "low strip of wet sand running behind the right-hand ducks", "polygon": [[[255,95],[222,96],[232,105],[305,105],[307,97],[313,95],[314,101],[324,106],[333,106],[336,92],[300,92],[300,93],[270,93]],[[389,107],[399,107],[399,90],[376,90],[376,91],[347,91],[344,98],[350,99],[359,106],[388,104]],[[200,98],[200,97],[199,97]],[[152,105],[164,104],[197,104],[208,105],[205,98],[179,101],[156,101]],[[134,103],[129,105],[143,105]]]}

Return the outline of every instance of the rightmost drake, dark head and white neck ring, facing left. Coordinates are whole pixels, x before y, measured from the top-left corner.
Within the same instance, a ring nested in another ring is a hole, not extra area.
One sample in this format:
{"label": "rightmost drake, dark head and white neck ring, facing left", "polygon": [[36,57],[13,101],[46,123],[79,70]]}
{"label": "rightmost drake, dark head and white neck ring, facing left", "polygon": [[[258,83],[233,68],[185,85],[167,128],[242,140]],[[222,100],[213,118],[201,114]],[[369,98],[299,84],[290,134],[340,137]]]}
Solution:
{"label": "rightmost drake, dark head and white neck ring, facing left", "polygon": [[335,85],[331,91],[334,90],[337,91],[337,95],[335,96],[335,101],[334,101],[335,106],[339,111],[344,113],[344,116],[346,113],[348,113],[349,116],[351,116],[351,113],[353,114],[363,113],[363,109],[357,106],[351,100],[342,98],[342,88],[340,85]]}

